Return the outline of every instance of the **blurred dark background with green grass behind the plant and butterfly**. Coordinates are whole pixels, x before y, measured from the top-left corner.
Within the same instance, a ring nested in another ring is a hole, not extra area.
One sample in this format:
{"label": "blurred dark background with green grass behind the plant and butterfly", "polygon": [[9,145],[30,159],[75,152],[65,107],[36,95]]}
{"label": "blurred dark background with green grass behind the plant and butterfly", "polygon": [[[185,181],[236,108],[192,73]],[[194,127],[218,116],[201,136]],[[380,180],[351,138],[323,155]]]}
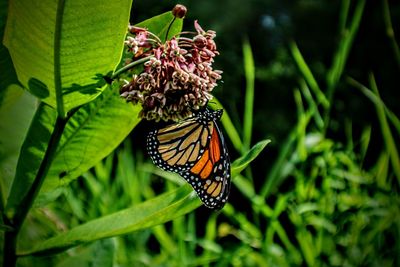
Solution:
{"label": "blurred dark background with green grass behind the plant and butterfly", "polygon": [[[393,33],[400,31],[400,3],[134,1],[131,23],[176,3],[188,8],[185,30],[197,19],[217,32],[215,68],[224,73],[214,95],[233,122],[222,122],[231,157],[262,139],[271,144],[235,177],[221,212],[201,207],[148,230],[19,263],[399,266],[400,52]],[[36,210],[22,243],[178,187],[179,178],[149,161],[145,134],[139,125],[58,202]]]}

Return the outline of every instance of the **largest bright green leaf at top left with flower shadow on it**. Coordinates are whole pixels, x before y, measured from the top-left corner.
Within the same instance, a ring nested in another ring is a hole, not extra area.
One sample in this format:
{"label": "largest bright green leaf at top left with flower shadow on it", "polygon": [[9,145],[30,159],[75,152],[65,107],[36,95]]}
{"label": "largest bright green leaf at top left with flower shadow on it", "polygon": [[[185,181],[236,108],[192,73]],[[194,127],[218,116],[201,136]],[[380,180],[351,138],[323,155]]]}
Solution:
{"label": "largest bright green leaf at top left with flower shadow on it", "polygon": [[18,80],[61,116],[93,100],[120,61],[130,7],[131,0],[10,1],[4,44]]}

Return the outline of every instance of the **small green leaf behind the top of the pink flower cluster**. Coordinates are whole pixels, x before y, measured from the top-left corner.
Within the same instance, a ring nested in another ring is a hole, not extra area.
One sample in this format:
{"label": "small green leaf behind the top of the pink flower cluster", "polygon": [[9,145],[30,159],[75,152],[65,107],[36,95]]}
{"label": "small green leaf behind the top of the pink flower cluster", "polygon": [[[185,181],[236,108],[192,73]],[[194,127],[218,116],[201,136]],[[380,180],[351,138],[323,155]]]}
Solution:
{"label": "small green leaf behind the top of the pink flower cluster", "polygon": [[[157,35],[162,41],[165,41],[169,24],[173,21],[174,16],[171,11],[165,12],[161,15],[144,20],[135,26],[148,29],[150,32]],[[168,38],[179,34],[182,31],[183,19],[175,19],[168,32]]]}

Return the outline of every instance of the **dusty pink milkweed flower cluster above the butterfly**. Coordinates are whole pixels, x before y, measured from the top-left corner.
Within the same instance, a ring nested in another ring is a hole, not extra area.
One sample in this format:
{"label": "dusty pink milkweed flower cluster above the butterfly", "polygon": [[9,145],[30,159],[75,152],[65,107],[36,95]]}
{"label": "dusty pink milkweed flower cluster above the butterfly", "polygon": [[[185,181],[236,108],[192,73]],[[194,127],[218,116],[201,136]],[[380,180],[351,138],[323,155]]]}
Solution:
{"label": "dusty pink milkweed flower cluster above the butterfly", "polygon": [[142,105],[142,118],[177,121],[212,98],[222,73],[212,68],[219,54],[216,34],[204,31],[197,21],[194,27],[196,32],[182,32],[162,43],[146,29],[130,26],[132,36],[125,45],[133,56],[127,63],[144,61],[144,69],[122,86],[121,96]]}

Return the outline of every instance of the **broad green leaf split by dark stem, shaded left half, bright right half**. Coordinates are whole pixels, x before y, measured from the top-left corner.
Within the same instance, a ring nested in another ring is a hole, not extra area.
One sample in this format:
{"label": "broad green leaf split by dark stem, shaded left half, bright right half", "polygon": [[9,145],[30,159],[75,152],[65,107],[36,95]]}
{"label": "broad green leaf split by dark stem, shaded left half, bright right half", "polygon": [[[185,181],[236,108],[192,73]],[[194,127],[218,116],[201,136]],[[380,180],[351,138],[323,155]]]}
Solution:
{"label": "broad green leaf split by dark stem, shaded left half, bright right half", "polygon": [[[139,122],[138,107],[127,104],[116,90],[108,87],[100,97],[82,106],[70,118],[37,203],[54,199],[62,186],[107,156]],[[47,148],[55,118],[53,108],[40,105],[22,147],[7,202],[8,212],[14,212],[31,186]]]}

